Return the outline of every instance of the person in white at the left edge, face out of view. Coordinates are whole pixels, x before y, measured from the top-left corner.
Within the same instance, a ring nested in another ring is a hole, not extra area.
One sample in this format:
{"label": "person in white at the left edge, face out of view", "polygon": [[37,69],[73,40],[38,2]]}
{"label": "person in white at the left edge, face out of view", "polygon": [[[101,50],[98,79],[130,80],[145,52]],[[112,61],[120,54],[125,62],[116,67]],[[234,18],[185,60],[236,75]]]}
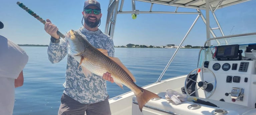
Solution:
{"label": "person in white at the left edge, face out of view", "polygon": [[[4,27],[0,21],[0,29]],[[26,52],[0,35],[0,114],[12,115],[15,88],[23,85],[23,69],[28,62]]]}

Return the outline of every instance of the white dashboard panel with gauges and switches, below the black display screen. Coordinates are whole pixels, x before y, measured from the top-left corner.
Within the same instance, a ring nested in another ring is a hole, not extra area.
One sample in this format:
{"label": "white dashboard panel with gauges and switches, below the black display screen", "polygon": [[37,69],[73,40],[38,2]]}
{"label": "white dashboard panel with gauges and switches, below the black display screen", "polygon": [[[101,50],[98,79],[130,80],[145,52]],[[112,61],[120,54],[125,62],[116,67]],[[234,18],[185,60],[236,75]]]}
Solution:
{"label": "white dashboard panel with gauges and switches, below the black display screen", "polygon": [[[204,67],[216,77],[216,89],[198,92],[199,97],[213,93],[209,99],[256,107],[256,60],[206,61]],[[203,73],[204,81],[212,81],[211,73]],[[199,74],[202,77],[202,74]],[[208,78],[209,77],[209,78]],[[201,78],[202,79],[202,78]],[[199,88],[196,86],[196,88]]]}

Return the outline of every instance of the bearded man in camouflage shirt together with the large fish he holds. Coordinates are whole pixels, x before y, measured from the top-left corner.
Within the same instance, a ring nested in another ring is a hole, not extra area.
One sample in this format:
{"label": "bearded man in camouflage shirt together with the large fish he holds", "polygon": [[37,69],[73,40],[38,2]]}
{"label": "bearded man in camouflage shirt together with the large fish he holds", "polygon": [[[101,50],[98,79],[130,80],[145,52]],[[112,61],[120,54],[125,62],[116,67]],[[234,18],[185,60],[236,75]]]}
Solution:
{"label": "bearded man in camouflage shirt together with the large fish he holds", "polygon": [[137,86],[133,74],[114,57],[112,38],[98,29],[102,16],[99,2],[85,1],[82,14],[83,27],[70,30],[62,40],[56,33],[58,28],[50,20],[45,23],[45,31],[51,35],[49,60],[57,63],[68,54],[65,90],[58,114],[111,115],[105,80],[130,88],[142,111],[150,99],[159,96]]}

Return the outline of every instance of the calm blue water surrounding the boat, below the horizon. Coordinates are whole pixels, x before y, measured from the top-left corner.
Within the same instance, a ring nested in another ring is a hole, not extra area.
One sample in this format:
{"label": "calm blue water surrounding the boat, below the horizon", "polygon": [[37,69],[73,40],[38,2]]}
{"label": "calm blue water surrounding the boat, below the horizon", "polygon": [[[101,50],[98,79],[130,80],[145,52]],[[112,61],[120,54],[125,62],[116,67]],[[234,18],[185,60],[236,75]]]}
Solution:
{"label": "calm blue water surrounding the boat, below the horizon", "polygon": [[[25,66],[24,85],[15,89],[13,115],[56,115],[65,81],[65,57],[51,64],[47,47],[22,47],[29,60]],[[157,81],[176,49],[172,48],[115,48],[115,57],[134,74],[136,84],[145,86]],[[188,74],[196,68],[199,49],[180,49],[162,79]],[[109,97],[127,91],[107,82]]]}

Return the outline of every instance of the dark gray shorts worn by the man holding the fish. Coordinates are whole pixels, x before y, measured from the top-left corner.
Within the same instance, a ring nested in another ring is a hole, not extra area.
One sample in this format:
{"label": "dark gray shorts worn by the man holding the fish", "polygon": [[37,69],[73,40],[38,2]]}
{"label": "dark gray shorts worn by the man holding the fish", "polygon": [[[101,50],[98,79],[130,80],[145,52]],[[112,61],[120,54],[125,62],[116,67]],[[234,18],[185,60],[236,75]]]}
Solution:
{"label": "dark gray shorts worn by the man holding the fish", "polygon": [[111,115],[108,97],[101,102],[82,104],[63,93],[58,115]]}

